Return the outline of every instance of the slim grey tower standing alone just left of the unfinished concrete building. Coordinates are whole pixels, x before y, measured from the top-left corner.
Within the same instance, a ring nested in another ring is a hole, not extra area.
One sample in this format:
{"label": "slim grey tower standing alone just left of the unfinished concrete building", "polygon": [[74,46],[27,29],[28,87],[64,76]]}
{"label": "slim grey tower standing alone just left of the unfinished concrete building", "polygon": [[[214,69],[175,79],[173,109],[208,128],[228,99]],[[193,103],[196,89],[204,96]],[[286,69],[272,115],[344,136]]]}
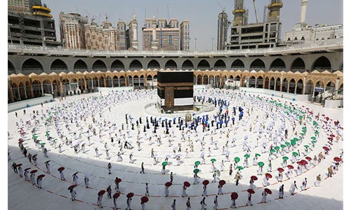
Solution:
{"label": "slim grey tower standing alone just left of the unfinished concrete building", "polygon": [[223,10],[218,14],[217,27],[217,50],[225,50],[227,45],[227,29],[230,22],[228,22],[228,15]]}

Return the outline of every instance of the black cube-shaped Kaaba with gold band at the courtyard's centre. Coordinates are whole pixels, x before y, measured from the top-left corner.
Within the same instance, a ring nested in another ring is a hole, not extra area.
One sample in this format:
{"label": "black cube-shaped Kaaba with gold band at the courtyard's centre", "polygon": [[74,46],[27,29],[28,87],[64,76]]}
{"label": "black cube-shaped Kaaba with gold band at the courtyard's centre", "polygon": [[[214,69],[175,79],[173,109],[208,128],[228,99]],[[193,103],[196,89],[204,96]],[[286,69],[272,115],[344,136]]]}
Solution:
{"label": "black cube-shaped Kaaba with gold band at the courtyard's centre", "polygon": [[192,110],[194,73],[192,71],[158,71],[158,104],[166,113]]}

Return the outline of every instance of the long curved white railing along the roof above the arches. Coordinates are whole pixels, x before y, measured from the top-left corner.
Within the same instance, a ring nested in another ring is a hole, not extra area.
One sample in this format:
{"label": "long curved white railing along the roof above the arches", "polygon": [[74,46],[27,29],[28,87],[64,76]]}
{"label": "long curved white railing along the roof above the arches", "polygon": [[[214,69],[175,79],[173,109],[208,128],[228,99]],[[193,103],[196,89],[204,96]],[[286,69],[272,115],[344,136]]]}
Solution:
{"label": "long curved white railing along the roof above the arches", "polygon": [[305,41],[302,43],[286,43],[282,47],[245,49],[245,50],[216,50],[216,51],[100,51],[100,50],[70,50],[62,47],[38,46],[38,45],[20,45],[17,43],[8,43],[8,52],[18,53],[38,53],[44,55],[75,55],[75,56],[114,56],[114,57],[213,57],[213,56],[230,56],[230,55],[255,55],[270,54],[277,52],[311,52],[315,50],[333,50],[343,49],[343,38],[333,38],[322,41]]}

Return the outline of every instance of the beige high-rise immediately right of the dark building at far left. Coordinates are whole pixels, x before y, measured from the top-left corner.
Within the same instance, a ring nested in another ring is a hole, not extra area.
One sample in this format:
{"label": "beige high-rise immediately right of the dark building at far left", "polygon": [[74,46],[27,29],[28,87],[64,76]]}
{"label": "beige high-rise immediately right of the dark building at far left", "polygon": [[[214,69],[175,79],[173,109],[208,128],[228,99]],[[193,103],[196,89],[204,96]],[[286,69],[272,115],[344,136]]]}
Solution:
{"label": "beige high-rise immediately right of the dark building at far left", "polygon": [[84,25],[88,23],[88,17],[82,17],[78,13],[60,13],[60,35],[64,48],[86,48]]}

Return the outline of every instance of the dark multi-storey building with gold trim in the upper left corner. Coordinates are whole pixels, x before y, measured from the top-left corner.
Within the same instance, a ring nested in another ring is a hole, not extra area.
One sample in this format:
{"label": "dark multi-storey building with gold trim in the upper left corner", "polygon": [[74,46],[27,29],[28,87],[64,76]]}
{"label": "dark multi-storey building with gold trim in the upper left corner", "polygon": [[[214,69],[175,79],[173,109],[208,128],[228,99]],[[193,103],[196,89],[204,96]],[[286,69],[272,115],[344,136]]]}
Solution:
{"label": "dark multi-storey building with gold trim in the upper left corner", "polygon": [[41,0],[8,0],[8,43],[60,45],[50,13]]}

